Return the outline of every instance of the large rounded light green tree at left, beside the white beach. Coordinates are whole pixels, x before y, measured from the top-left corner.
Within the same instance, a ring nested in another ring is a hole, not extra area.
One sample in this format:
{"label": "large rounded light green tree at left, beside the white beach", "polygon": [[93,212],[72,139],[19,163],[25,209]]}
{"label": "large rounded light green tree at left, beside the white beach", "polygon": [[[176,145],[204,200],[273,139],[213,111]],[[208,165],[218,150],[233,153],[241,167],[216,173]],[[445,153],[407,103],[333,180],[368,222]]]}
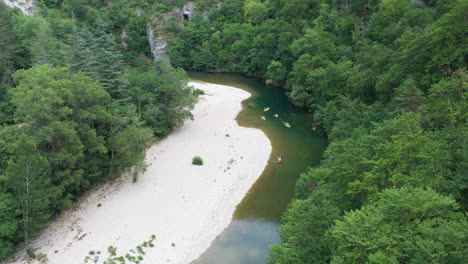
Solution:
{"label": "large rounded light green tree at left, beside the white beach", "polygon": [[60,187],[63,198],[54,200],[54,208],[67,208],[88,185],[87,177],[96,177],[95,166],[85,161],[92,162],[93,155],[100,160],[107,152],[110,96],[96,81],[66,68],[43,65],[18,71],[15,78],[16,121],[27,124],[49,161],[51,183]]}

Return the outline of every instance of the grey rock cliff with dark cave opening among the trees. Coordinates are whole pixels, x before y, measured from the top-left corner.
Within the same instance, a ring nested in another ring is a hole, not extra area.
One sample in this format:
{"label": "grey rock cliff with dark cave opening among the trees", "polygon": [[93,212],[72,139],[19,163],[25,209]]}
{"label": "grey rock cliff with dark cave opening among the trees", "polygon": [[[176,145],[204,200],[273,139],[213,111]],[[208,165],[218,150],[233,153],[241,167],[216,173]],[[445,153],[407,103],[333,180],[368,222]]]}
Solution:
{"label": "grey rock cliff with dark cave opening among the trees", "polygon": [[146,33],[153,53],[154,59],[169,60],[167,55],[167,46],[169,41],[174,38],[170,32],[170,26],[175,22],[178,25],[183,25],[190,21],[195,16],[197,6],[188,2],[182,9],[173,9],[171,12],[164,14],[162,17],[153,16],[151,21],[146,26]]}

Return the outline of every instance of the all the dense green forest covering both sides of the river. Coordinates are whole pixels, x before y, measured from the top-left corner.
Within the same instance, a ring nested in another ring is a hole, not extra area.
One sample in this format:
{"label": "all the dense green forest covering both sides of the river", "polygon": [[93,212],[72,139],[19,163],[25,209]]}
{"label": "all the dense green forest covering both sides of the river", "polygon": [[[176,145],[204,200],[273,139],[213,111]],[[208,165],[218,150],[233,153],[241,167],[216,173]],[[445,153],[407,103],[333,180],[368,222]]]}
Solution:
{"label": "all the dense green forest covering both sides of the river", "polygon": [[38,2],[0,5],[0,259],[144,169],[152,138],[190,117],[180,68],[283,87],[330,141],[271,263],[468,258],[468,0],[194,1],[209,12],[170,27],[172,66],[149,58],[146,24],[187,1]]}

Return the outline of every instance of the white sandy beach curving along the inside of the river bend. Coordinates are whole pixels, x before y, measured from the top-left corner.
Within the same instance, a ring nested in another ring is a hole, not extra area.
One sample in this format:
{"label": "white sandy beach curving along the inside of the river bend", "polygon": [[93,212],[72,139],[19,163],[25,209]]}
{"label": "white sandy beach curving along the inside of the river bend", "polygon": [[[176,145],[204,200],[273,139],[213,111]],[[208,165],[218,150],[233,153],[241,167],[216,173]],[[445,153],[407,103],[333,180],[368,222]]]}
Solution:
{"label": "white sandy beach curving along the inside of the river bend", "polygon": [[[194,120],[148,150],[149,167],[137,183],[123,177],[58,217],[33,242],[37,253],[47,255],[47,263],[82,264],[91,250],[107,256],[110,245],[125,255],[155,234],[155,247],[146,250],[142,263],[187,264],[228,226],[264,170],[271,144],[262,131],[235,121],[248,92],[191,85],[207,94],[196,105]],[[196,155],[203,166],[191,164]]]}

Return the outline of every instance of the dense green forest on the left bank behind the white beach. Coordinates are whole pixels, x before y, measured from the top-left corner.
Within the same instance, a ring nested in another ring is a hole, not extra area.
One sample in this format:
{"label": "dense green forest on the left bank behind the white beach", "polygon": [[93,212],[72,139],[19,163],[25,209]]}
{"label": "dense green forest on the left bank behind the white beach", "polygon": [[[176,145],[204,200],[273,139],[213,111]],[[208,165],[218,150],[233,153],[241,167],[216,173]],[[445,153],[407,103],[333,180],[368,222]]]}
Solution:
{"label": "dense green forest on the left bank behind the white beach", "polygon": [[185,72],[153,62],[147,39],[122,49],[120,22],[87,6],[105,4],[41,1],[34,16],[0,4],[0,260],[95,186],[136,181],[151,142],[191,117]]}

